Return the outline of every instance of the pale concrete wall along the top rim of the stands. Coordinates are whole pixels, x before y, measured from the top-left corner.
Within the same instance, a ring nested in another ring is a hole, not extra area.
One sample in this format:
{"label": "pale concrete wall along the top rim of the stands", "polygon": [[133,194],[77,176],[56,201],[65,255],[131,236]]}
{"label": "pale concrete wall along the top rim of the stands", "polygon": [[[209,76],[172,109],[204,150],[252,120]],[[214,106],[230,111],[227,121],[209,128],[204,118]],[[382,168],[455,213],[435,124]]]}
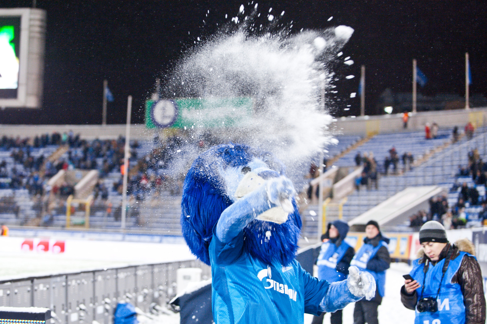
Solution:
{"label": "pale concrete wall along the top rim of the stands", "polygon": [[[462,130],[468,121],[471,121],[476,127],[487,125],[487,107],[416,113],[409,118],[407,131],[422,131],[427,122],[436,122],[440,128],[458,126]],[[361,136],[396,133],[404,130],[401,114],[356,118],[342,117],[336,120],[335,129],[344,135]],[[70,130],[87,139],[125,136],[125,125],[0,125],[0,136],[34,137],[46,133],[69,132]],[[170,133],[171,131],[161,132]],[[133,139],[150,139],[156,133],[157,131],[148,130],[142,124],[131,125],[131,138]]]}

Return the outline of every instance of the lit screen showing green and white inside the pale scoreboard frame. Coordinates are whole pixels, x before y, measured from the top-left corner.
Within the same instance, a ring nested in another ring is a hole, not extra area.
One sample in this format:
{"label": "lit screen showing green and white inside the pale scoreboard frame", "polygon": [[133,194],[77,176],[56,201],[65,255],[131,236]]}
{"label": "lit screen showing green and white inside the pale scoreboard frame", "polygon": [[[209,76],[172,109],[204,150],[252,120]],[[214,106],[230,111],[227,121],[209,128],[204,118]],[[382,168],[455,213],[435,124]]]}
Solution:
{"label": "lit screen showing green and white inside the pale scoreboard frame", "polygon": [[0,98],[17,98],[20,17],[0,17]]}

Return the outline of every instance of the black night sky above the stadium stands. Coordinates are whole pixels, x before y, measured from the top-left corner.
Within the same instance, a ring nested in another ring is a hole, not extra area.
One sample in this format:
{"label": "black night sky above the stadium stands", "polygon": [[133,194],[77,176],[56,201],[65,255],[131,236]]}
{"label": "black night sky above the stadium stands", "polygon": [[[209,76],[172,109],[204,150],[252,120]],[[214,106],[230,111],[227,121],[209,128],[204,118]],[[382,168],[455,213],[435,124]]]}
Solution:
{"label": "black night sky above the stadium stands", "polygon": [[[39,110],[0,111],[0,123],[101,123],[103,79],[115,101],[108,123],[125,121],[133,95],[132,122],[144,121],[143,104],[154,80],[176,61],[197,36],[215,32],[225,14],[237,15],[248,0],[112,1],[37,0],[47,10],[44,105]],[[349,25],[355,29],[343,49],[355,64],[341,73],[358,76],[367,68],[366,109],[387,87],[411,91],[412,58],[429,83],[423,94],[464,95],[465,52],[470,54],[470,93],[487,95],[487,1],[485,0],[279,0],[257,1],[285,11],[293,31]],[[27,7],[30,0],[0,0],[0,7]],[[205,17],[207,10],[210,11]],[[334,18],[328,22],[328,17]],[[205,19],[206,24],[203,23]],[[188,35],[188,31],[190,34]],[[343,98],[357,89],[358,78],[339,84]],[[348,99],[350,114],[358,98]]]}

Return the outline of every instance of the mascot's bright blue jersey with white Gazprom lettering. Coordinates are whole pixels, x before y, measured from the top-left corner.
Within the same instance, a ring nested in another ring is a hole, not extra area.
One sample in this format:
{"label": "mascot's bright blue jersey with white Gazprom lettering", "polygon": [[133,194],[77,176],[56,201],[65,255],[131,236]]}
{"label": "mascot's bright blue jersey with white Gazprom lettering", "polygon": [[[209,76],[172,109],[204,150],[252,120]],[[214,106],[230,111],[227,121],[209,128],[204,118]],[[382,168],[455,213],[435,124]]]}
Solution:
{"label": "mascot's bright blue jersey with white Gazprom lettering", "polygon": [[216,324],[303,323],[303,313],[318,315],[330,284],[289,266],[264,264],[244,251],[244,235],[229,243],[215,235],[209,245],[212,310]]}

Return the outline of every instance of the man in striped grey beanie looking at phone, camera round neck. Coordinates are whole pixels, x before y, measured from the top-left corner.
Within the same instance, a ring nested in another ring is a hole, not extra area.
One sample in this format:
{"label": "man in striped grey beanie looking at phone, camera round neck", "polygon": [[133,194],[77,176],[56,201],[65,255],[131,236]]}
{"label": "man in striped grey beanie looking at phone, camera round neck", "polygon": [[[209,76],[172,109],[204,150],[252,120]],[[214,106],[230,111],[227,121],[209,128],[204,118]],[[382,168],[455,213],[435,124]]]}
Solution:
{"label": "man in striped grey beanie looking at phone, camera round neck", "polygon": [[419,232],[423,248],[401,288],[401,301],[416,311],[415,324],[485,324],[486,301],[472,242],[450,244],[443,225],[426,222]]}

